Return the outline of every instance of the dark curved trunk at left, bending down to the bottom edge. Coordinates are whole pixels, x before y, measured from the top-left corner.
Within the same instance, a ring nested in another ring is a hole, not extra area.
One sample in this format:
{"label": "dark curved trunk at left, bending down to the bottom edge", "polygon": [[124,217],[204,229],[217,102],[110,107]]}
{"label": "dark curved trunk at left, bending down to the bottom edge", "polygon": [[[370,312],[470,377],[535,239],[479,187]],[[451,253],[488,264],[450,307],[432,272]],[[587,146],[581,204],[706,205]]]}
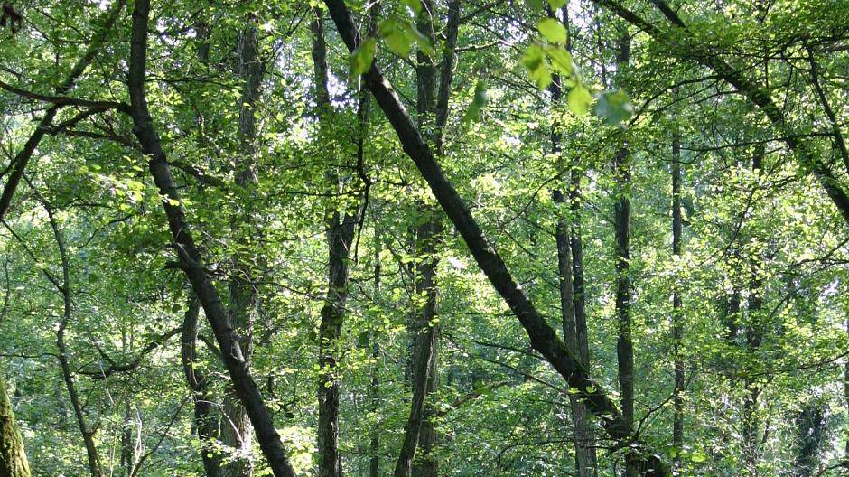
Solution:
{"label": "dark curved trunk at left, bending down to the bottom edge", "polygon": [[210,275],[203,266],[201,252],[191,235],[180,203],[180,195],[173,182],[171,167],[163,151],[159,135],[145,96],[145,68],[147,60],[147,26],[150,17],[149,0],[137,0],[133,11],[133,33],[130,44],[128,89],[133,119],[133,133],[148,157],[148,167],[154,182],[163,195],[163,209],[173,237],[173,248],[179,258],[180,267],[189,278],[191,287],[203,307],[219,350],[227,368],[236,395],[247,411],[254,427],[257,441],[275,477],[294,477],[280,435],[268,408],[263,402],[257,383],[248,370],[247,360],[238,343],[238,335],[229,323],[229,316]]}

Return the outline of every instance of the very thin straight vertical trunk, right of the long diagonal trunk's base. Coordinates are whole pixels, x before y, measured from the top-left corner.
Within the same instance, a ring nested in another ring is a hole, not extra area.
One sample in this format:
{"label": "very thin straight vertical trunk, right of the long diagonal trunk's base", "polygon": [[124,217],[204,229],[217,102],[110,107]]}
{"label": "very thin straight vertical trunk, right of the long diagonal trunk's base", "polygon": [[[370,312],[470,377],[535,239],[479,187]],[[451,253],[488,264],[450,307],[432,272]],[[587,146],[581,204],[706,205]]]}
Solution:
{"label": "very thin straight vertical trunk, right of the long diagonal trunk's base", "polygon": [[[678,128],[672,131],[672,255],[681,256],[681,138]],[[672,446],[675,449],[673,472],[680,471],[680,452],[684,445],[684,360],[681,359],[681,338],[683,333],[681,316],[681,292],[678,285],[672,285],[672,354],[675,360],[675,388],[672,407]]]}

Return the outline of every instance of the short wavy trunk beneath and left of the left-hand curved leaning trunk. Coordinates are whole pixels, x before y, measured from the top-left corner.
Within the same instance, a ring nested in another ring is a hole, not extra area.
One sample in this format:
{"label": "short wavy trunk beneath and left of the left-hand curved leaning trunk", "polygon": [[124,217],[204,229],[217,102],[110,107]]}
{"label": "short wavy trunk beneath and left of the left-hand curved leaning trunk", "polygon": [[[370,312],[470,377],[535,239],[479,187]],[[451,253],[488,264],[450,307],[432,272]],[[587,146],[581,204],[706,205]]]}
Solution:
{"label": "short wavy trunk beneath and left of the left-hand curved leaning trunk", "polygon": [[215,441],[219,436],[219,421],[215,416],[212,393],[209,381],[197,363],[198,342],[198,315],[201,312],[201,303],[197,297],[192,296],[189,307],[182,319],[180,334],[180,356],[182,361],[182,372],[186,376],[186,382],[191,390],[191,399],[194,404],[194,422],[192,427],[201,441],[201,461],[203,472],[206,477],[219,477],[219,459],[216,456]]}

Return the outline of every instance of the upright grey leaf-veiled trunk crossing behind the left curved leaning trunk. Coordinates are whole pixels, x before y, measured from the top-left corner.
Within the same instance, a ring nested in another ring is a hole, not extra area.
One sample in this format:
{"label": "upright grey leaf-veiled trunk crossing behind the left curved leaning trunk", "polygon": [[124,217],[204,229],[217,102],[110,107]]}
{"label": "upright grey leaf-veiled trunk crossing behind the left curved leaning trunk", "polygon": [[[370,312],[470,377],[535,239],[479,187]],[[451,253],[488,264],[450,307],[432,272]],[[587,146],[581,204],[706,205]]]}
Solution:
{"label": "upright grey leaf-veiled trunk crossing behind the left curved leaning trunk", "polygon": [[[242,210],[234,215],[231,229],[238,244],[248,246],[249,237],[256,233],[252,223],[252,197],[257,184],[255,155],[257,141],[256,109],[259,101],[264,67],[259,58],[256,19],[251,15],[248,26],[238,33],[237,74],[244,81],[238,111],[239,154],[235,160],[235,182],[239,192],[245,194]],[[238,255],[238,254],[237,254]],[[251,260],[234,257],[229,279],[229,318],[238,335],[239,347],[245,360],[250,361],[253,352],[253,323],[257,308],[257,290]],[[232,389],[224,396],[221,442],[232,449],[231,459],[221,468],[223,477],[249,477],[253,473],[251,446],[253,430],[245,407],[239,402]]]}

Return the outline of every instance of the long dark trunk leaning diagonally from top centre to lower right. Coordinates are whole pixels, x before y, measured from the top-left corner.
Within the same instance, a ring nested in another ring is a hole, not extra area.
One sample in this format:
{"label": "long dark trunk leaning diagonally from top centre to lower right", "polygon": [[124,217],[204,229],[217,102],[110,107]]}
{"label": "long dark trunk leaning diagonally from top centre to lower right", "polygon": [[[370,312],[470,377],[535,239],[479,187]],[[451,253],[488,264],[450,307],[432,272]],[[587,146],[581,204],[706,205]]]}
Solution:
{"label": "long dark trunk leaning diagonally from top centre to lower right", "polygon": [[[359,32],[348,8],[341,0],[325,0],[324,3],[331,12],[342,40],[349,51],[353,51],[359,42]],[[601,417],[602,426],[611,438],[620,444],[630,444],[626,452],[626,459],[629,462],[635,463],[643,475],[668,475],[667,467],[660,461],[658,455],[639,439],[633,439],[631,426],[622,417],[618,407],[605,394],[601,385],[590,379],[577,357],[566,349],[554,329],[536,311],[534,304],[513,279],[498,252],[483,235],[483,231],[472,217],[460,194],[446,179],[432,150],[425,144],[424,138],[410,119],[400,98],[397,97],[378,67],[373,64],[364,75],[364,79],[395,129],[405,153],[413,160],[443,211],[466,241],[481,271],[489,278],[490,283],[525,328],[534,349],[551,363],[570,387],[578,390],[579,397],[586,400],[592,413]]]}

